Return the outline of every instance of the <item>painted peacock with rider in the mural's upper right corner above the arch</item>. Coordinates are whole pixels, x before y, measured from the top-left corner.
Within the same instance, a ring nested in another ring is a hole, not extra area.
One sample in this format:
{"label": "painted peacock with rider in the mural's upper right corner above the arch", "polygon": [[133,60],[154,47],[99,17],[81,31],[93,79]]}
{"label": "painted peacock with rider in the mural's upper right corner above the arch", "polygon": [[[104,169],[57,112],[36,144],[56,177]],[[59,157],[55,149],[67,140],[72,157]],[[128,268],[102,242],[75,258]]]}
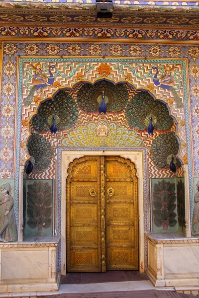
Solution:
{"label": "painted peacock with rider in the mural's upper right corner above the arch", "polygon": [[161,77],[159,79],[157,77],[158,76],[158,68],[153,66],[152,69],[156,70],[156,74],[153,77],[154,84],[160,88],[167,89],[167,90],[171,91],[171,93],[174,96],[176,106],[178,108],[183,108],[183,103],[180,99],[180,96],[178,95],[175,88],[173,87],[174,79],[173,79],[173,76],[171,75],[172,68],[169,65],[166,65],[166,70],[163,74],[163,77]]}

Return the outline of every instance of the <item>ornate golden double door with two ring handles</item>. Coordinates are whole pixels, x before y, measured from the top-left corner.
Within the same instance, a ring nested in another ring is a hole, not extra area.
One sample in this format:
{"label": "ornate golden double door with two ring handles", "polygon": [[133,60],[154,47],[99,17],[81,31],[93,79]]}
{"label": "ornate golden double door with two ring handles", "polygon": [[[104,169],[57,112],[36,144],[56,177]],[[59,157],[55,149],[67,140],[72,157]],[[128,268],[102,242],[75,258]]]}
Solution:
{"label": "ornate golden double door with two ring handles", "polygon": [[137,177],[120,156],[84,156],[67,178],[67,271],[138,270]]}

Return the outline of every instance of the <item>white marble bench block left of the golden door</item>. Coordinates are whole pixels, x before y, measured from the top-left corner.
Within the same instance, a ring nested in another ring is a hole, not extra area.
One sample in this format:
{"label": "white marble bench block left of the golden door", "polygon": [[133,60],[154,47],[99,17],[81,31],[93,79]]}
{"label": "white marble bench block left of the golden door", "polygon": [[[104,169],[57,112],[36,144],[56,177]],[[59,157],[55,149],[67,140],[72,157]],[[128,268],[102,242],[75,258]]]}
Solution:
{"label": "white marble bench block left of the golden door", "polygon": [[26,237],[0,242],[0,293],[58,291],[60,236]]}

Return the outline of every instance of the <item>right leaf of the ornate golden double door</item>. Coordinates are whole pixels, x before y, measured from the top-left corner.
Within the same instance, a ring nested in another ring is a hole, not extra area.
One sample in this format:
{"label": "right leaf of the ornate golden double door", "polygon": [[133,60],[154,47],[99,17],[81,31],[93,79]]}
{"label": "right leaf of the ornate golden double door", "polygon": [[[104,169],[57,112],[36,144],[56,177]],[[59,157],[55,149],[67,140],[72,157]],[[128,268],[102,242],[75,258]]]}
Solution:
{"label": "right leaf of the ornate golden double door", "polygon": [[106,269],[138,270],[137,178],[134,165],[106,157]]}

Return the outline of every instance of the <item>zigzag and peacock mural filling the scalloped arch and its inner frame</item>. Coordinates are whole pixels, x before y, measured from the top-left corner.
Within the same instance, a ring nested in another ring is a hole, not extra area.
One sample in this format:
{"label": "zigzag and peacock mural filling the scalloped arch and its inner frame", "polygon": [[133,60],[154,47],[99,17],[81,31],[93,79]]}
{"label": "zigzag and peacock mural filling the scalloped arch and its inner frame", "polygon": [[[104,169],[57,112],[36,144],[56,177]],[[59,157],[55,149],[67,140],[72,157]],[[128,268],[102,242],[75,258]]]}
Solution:
{"label": "zigzag and peacock mural filling the scalloped arch and its inner frame", "polygon": [[[131,62],[130,64],[129,60],[126,60],[125,64],[123,61],[122,63],[114,62],[111,66],[98,59],[94,59],[93,63],[84,63],[84,60],[81,63],[67,63],[67,59],[65,63],[52,61],[51,65],[44,62],[29,65],[25,63],[22,121],[26,123],[28,117],[29,130],[26,126],[22,128],[21,143],[24,149],[27,145],[28,154],[33,156],[34,162],[37,156],[35,168],[39,172],[45,169],[48,171],[45,173],[48,178],[55,178],[53,174],[55,170],[52,170],[54,165],[50,166],[49,157],[52,160],[55,155],[52,153],[53,148],[60,146],[144,146],[150,150],[149,177],[155,177],[154,173],[158,172],[159,168],[163,169],[160,174],[163,177],[173,175],[168,167],[172,156],[178,166],[177,175],[183,175],[181,162],[176,155],[178,154],[183,160],[187,153],[186,149],[180,146],[180,143],[184,143],[185,127],[178,132],[175,124],[176,115],[172,118],[169,115],[168,106],[157,100],[161,98],[162,101],[168,102],[168,96],[173,96],[173,101],[171,100],[169,105],[171,112],[175,111],[174,114],[177,112],[182,117],[184,99],[181,93],[181,66],[167,64],[158,66],[155,62],[154,65],[158,67],[154,67],[153,64],[137,64],[136,60],[135,62],[131,60]],[[52,69],[54,72],[51,72]],[[81,73],[79,73],[80,69]],[[83,77],[86,83],[81,82]],[[78,81],[80,81],[79,84],[77,84]],[[140,86],[144,83],[148,91],[141,91]],[[64,89],[66,86],[70,88]],[[102,91],[107,108],[105,115],[100,115],[98,112]],[[46,94],[49,99],[45,100],[43,94]],[[33,117],[30,117],[30,105],[37,107],[36,114],[32,114]],[[56,129],[58,129],[56,136],[50,133],[53,117]],[[154,125],[152,138],[149,138],[147,132],[150,118]],[[99,125],[97,120],[102,119],[107,127],[106,136],[100,136],[97,133],[96,125]],[[118,123],[119,119],[122,119],[120,123]],[[83,122],[84,125],[82,125]],[[166,133],[161,134],[162,132]],[[32,136],[29,138],[30,133]],[[175,137],[175,133],[180,141]],[[46,144],[51,144],[51,148],[48,145],[49,150],[38,146],[39,142],[44,144],[44,140]],[[161,140],[164,146],[159,146]],[[168,153],[166,156],[164,150]],[[27,151],[24,150],[23,154],[27,154]],[[160,161],[161,158],[163,160]],[[43,162],[42,166],[38,166],[40,163],[38,160]],[[33,177],[41,179],[46,176],[33,173]]]}

